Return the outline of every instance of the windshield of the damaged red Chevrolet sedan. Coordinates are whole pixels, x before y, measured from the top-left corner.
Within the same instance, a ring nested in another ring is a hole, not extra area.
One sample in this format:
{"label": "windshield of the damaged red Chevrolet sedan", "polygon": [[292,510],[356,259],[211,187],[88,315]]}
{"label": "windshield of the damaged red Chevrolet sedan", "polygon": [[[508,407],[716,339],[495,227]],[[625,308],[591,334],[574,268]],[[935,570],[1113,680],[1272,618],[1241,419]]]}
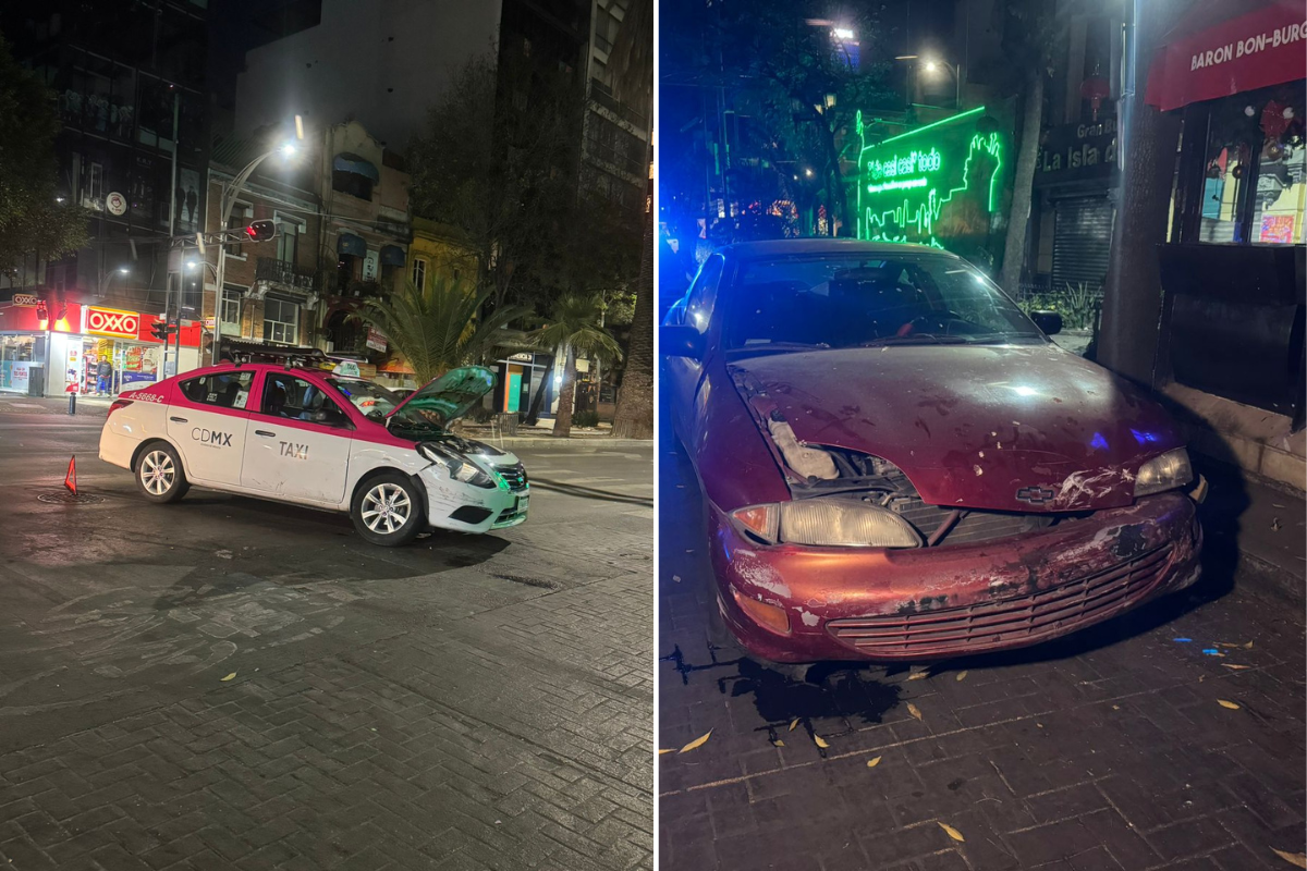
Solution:
{"label": "windshield of the damaged red Chevrolet sedan", "polygon": [[979,270],[942,256],[752,260],[729,298],[735,351],[1047,341]]}

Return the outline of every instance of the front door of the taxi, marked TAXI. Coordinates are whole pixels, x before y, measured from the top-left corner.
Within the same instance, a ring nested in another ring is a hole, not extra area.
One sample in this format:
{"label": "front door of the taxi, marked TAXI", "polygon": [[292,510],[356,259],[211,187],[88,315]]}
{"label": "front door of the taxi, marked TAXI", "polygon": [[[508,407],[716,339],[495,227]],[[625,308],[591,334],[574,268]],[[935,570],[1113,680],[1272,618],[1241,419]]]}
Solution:
{"label": "front door of the taxi, marked TAXI", "polygon": [[240,484],[278,499],[339,505],[354,424],[323,384],[269,371],[250,410]]}

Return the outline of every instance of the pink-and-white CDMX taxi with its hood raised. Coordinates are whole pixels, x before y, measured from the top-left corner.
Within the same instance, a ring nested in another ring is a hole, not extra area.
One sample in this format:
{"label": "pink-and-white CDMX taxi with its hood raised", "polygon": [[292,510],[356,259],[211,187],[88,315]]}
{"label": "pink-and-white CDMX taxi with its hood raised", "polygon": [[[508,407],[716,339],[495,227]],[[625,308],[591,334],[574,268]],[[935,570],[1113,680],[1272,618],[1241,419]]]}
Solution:
{"label": "pink-and-white CDMX taxi with its hood raised", "polygon": [[359,379],[223,363],[120,394],[99,457],[132,470],[157,503],[193,484],[348,512],[359,535],[388,546],[433,526],[486,533],[527,518],[527,473],[514,454],[447,427],[494,380],[457,368],[388,409],[365,409]]}

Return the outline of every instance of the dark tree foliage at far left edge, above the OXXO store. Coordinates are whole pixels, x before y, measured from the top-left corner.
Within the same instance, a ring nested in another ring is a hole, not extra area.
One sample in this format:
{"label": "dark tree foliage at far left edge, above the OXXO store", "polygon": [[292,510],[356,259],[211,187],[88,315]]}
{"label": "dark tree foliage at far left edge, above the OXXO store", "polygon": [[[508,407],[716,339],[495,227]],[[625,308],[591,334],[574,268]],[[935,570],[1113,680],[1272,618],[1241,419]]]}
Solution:
{"label": "dark tree foliage at far left edge, above the OXXO store", "polygon": [[0,269],[29,255],[47,260],[86,242],[86,213],[56,202],[55,97],[0,38]]}

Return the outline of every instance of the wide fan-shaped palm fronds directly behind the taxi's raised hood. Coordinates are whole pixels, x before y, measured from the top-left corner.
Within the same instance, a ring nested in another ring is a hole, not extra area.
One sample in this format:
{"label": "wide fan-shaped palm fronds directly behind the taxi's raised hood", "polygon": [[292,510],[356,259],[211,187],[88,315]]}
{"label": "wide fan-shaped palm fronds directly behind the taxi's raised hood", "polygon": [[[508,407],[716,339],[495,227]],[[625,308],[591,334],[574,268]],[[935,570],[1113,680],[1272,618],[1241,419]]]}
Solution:
{"label": "wide fan-shaped palm fronds directly behind the taxi's raised hood", "polygon": [[358,317],[375,326],[413,367],[418,384],[446,371],[480,362],[502,338],[501,328],[525,309],[501,306],[485,313],[493,289],[477,294],[472,285],[434,276],[421,289],[408,282],[384,299],[367,299]]}

